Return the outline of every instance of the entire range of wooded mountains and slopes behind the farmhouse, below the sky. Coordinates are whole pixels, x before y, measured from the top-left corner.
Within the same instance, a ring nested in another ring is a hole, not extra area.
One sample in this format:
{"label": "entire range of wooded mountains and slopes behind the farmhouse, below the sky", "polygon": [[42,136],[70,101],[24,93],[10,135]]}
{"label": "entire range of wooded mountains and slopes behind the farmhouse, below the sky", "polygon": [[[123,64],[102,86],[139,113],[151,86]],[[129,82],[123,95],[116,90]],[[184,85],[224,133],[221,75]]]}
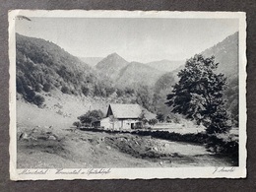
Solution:
{"label": "entire range of wooded mountains and slopes behind the farmhouse, below the sky", "polygon": [[[91,97],[116,94],[125,98],[129,93],[134,96],[135,102],[154,105],[156,111],[166,112],[165,96],[178,81],[177,73],[185,64],[185,61],[169,60],[128,62],[117,53],[105,58],[77,58],[44,39],[18,33],[16,39],[17,92],[28,101],[34,96],[32,92],[51,90]],[[228,82],[226,96],[229,110],[238,114],[238,32],[227,36],[202,54],[215,55],[216,61],[220,63],[218,71],[226,75]],[[142,90],[145,91],[143,96]],[[136,96],[141,97],[136,99]]]}

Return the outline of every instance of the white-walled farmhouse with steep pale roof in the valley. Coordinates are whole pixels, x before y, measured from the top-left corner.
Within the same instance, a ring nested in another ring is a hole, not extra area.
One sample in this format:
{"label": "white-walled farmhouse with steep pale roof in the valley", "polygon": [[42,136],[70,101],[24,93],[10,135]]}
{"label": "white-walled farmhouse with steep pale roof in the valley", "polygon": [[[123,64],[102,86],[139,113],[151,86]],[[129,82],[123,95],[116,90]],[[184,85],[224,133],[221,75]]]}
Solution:
{"label": "white-walled farmhouse with steep pale roof in the valley", "polygon": [[142,126],[142,112],[139,104],[109,104],[106,117],[93,125],[112,130],[135,129]]}

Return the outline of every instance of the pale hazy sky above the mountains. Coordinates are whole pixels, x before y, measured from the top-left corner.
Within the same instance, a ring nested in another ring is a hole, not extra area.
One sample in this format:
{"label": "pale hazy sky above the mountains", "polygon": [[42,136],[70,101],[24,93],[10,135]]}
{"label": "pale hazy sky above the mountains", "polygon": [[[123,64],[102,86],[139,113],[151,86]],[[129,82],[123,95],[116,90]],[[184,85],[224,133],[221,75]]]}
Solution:
{"label": "pale hazy sky above the mountains", "polygon": [[127,61],[184,60],[238,32],[236,19],[17,20],[16,32],[50,40],[79,57],[116,52]]}

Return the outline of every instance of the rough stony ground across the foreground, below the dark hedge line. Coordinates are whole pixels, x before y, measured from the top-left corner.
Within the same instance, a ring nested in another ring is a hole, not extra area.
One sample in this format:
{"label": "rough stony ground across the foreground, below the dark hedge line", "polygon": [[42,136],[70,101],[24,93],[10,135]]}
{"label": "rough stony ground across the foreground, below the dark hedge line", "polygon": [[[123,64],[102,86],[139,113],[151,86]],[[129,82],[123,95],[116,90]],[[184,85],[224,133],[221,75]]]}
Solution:
{"label": "rough stony ground across the foreground, below the dark hedge line", "polygon": [[18,133],[19,168],[228,166],[204,146],[131,134],[51,128]]}

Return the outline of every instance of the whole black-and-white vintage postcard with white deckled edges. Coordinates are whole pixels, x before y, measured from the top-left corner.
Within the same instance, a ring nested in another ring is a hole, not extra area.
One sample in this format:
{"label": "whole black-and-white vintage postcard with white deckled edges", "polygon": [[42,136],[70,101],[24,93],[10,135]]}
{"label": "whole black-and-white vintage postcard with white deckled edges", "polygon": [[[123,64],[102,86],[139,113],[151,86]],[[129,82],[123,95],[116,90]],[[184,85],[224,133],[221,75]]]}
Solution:
{"label": "whole black-and-white vintage postcard with white deckled edges", "polygon": [[9,12],[12,180],[246,177],[241,12]]}

